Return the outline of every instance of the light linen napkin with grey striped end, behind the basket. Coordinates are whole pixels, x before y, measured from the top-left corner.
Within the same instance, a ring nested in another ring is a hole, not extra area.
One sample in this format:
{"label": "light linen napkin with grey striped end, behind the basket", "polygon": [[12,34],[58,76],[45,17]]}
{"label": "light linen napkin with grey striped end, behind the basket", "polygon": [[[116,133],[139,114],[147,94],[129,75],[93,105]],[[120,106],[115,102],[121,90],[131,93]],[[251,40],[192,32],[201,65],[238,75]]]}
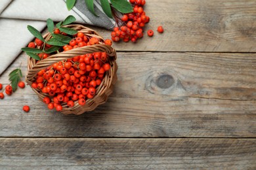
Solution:
{"label": "light linen napkin with grey striped end, behind the basket", "polygon": [[72,10],[68,11],[65,0],[1,0],[0,1],[0,75],[20,54],[20,48],[32,41],[33,35],[27,29],[32,25],[39,31],[46,27],[47,18],[54,22],[63,21],[68,15],[73,15],[80,24],[89,24],[112,29],[116,24],[108,18],[95,1],[95,12],[91,14],[84,0],[77,0]]}

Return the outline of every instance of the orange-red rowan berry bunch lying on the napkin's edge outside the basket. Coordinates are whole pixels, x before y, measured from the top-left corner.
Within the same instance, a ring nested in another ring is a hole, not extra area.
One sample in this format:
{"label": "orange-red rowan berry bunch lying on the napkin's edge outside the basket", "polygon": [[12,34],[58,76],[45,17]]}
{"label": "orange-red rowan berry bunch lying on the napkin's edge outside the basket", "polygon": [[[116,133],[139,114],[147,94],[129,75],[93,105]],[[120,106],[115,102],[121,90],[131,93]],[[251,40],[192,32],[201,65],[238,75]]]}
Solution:
{"label": "orange-red rowan berry bunch lying on the napkin's edge outside the basket", "polygon": [[133,12],[124,14],[121,20],[124,22],[123,26],[115,27],[111,33],[112,41],[119,41],[123,39],[124,42],[136,42],[137,39],[143,37],[143,27],[150,21],[146,16],[143,6],[146,4],[145,0],[130,0],[133,5]]}

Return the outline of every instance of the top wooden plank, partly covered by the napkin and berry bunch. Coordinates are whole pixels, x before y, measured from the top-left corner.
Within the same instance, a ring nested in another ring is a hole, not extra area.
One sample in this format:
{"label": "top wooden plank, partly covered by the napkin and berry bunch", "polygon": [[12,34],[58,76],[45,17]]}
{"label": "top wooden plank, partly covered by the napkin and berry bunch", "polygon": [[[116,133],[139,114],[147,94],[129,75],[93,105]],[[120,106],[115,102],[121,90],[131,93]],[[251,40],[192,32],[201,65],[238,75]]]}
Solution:
{"label": "top wooden plank, partly covered by the napkin and berry bunch", "polygon": [[[135,45],[114,43],[117,50],[256,52],[255,0],[151,0],[145,11],[150,23],[143,39]],[[156,31],[158,25],[163,25],[163,34]],[[146,35],[148,29],[155,31],[154,37]],[[96,30],[110,38],[110,31]]]}

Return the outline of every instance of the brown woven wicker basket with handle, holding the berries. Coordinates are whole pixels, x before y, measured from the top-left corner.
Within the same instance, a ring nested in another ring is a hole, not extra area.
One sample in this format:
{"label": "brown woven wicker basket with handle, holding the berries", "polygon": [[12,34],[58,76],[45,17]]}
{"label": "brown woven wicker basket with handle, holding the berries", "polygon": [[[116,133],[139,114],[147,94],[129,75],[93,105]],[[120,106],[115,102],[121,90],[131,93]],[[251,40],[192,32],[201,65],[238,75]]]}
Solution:
{"label": "brown woven wicker basket with handle, holding the berries", "polygon": [[[109,56],[108,61],[111,65],[111,69],[106,71],[104,79],[98,88],[96,88],[96,93],[93,99],[87,99],[86,104],[83,106],[79,105],[77,101],[75,101],[75,105],[72,108],[68,107],[66,103],[62,104],[61,112],[63,114],[83,114],[83,112],[94,110],[98,105],[105,103],[108,96],[113,92],[114,84],[117,80],[116,50],[112,48],[112,46],[103,44],[102,42],[104,42],[104,39],[93,29],[77,24],[66,25],[66,27],[70,27],[79,32],[85,33],[87,37],[96,37],[99,39],[100,44],[83,46],[66,52],[60,52],[39,62],[36,62],[35,59],[28,57],[28,74],[26,75],[26,82],[31,86],[35,81],[35,76],[41,69],[45,69],[49,65],[53,65],[53,63],[58,61],[63,61],[64,59],[73,58],[83,54],[90,54],[93,52],[106,52]],[[51,34],[46,33],[43,38],[48,41],[51,39]],[[41,100],[43,100],[45,96],[49,96],[47,93],[43,93],[39,89],[32,88],[32,90],[37,93]]]}

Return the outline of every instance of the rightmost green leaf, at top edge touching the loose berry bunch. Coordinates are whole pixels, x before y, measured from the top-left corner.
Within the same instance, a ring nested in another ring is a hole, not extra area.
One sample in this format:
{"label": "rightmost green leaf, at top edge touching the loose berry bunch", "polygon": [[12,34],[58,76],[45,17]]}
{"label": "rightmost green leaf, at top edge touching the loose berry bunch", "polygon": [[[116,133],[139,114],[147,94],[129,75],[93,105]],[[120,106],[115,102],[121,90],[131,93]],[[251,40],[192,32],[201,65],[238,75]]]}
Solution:
{"label": "rightmost green leaf, at top edge touching the loose berry bunch", "polygon": [[110,0],[113,7],[121,13],[127,14],[129,12],[133,12],[133,7],[131,7],[131,3],[126,0]]}

